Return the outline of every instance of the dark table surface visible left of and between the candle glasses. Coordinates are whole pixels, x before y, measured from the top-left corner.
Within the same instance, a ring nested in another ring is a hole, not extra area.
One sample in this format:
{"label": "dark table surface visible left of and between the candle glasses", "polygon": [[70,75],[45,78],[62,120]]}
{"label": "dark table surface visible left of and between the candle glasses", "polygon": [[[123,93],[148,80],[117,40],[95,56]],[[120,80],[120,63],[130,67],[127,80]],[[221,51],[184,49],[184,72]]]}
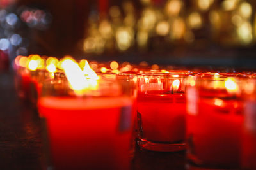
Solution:
{"label": "dark table surface visible left of and between the candle glasses", "polygon": [[[150,152],[136,146],[132,169],[185,169],[184,152]],[[15,92],[12,73],[0,73],[0,169],[44,167],[40,118]]]}

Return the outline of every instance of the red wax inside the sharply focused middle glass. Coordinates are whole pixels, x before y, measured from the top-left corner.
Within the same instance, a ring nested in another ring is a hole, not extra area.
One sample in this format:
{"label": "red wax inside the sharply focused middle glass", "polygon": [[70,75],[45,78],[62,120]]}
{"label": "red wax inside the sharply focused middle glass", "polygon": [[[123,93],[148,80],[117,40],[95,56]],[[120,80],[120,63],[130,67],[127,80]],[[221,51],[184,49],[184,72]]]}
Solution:
{"label": "red wax inside the sharply focused middle glass", "polygon": [[148,141],[175,143],[184,140],[186,104],[184,93],[138,93],[141,117],[139,136]]}

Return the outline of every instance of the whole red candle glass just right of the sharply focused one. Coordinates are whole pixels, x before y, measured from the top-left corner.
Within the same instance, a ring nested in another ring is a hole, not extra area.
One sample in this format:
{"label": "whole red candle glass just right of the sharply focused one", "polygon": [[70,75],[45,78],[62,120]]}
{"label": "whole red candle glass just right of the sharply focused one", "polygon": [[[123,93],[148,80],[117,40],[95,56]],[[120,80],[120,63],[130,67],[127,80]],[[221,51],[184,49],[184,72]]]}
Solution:
{"label": "whole red candle glass just right of the sharply focused one", "polygon": [[241,79],[220,75],[190,76],[186,97],[190,165],[239,167],[243,124]]}

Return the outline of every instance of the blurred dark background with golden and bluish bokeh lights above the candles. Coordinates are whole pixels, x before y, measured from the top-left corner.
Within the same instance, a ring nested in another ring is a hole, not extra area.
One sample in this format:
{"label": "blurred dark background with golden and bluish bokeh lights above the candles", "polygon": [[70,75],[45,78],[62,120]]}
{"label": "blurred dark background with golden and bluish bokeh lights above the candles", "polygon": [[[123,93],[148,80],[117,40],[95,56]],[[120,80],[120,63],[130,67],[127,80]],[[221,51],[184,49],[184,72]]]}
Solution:
{"label": "blurred dark background with golden and bluish bokeh lights above the candles", "polygon": [[0,70],[17,55],[256,68],[253,0],[0,0]]}

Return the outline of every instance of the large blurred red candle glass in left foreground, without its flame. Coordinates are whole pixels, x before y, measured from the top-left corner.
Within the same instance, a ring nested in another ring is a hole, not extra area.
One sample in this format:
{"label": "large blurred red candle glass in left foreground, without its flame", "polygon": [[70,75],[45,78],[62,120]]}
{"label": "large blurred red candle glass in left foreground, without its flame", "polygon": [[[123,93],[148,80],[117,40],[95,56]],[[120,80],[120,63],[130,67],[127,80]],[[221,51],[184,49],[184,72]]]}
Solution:
{"label": "large blurred red candle glass in left foreground, without its flame", "polygon": [[131,81],[101,75],[77,96],[66,78],[45,81],[38,111],[45,118],[54,169],[129,169],[132,136]]}

